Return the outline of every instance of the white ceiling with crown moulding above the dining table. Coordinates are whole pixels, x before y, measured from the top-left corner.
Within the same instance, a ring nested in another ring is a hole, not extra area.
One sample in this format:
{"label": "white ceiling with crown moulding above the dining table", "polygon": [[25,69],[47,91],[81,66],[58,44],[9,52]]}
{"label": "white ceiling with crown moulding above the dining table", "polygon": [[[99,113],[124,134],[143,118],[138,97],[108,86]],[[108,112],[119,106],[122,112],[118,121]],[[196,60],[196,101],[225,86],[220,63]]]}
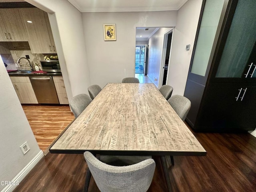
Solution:
{"label": "white ceiling with crown moulding above the dining table", "polygon": [[179,10],[188,0],[68,0],[80,12]]}

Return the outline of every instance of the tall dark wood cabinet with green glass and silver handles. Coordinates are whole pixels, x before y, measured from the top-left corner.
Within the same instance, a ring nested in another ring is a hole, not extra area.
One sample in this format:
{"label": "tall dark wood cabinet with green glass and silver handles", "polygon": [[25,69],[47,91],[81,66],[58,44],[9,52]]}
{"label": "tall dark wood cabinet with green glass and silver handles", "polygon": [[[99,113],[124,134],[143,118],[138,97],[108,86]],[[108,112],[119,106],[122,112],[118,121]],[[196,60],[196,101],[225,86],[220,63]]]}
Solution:
{"label": "tall dark wood cabinet with green glass and silver handles", "polygon": [[186,120],[195,131],[256,128],[255,9],[255,0],[228,1],[204,76],[192,70],[196,48],[193,50],[184,96],[192,102]]}

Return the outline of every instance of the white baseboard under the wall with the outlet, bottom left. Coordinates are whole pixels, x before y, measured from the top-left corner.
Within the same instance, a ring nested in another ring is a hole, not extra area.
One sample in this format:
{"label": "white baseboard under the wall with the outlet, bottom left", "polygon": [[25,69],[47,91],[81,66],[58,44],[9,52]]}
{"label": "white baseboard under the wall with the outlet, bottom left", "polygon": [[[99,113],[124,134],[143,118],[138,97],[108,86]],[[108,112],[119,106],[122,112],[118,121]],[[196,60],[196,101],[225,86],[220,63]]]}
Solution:
{"label": "white baseboard under the wall with the outlet, bottom left", "polygon": [[[42,150],[13,178],[11,183],[20,183],[25,176],[36,166],[36,164],[44,157]],[[17,185],[7,185],[1,192],[12,192]]]}

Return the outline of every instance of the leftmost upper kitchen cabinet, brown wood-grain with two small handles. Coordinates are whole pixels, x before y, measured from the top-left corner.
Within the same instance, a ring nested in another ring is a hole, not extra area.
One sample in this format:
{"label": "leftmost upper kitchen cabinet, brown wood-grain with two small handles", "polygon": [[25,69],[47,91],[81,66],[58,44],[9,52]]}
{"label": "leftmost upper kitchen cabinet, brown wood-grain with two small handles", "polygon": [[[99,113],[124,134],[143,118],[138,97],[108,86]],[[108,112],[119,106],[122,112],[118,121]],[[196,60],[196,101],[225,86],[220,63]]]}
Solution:
{"label": "leftmost upper kitchen cabinet, brown wood-grain with two small handles", "polygon": [[28,41],[17,8],[0,9],[0,41]]}

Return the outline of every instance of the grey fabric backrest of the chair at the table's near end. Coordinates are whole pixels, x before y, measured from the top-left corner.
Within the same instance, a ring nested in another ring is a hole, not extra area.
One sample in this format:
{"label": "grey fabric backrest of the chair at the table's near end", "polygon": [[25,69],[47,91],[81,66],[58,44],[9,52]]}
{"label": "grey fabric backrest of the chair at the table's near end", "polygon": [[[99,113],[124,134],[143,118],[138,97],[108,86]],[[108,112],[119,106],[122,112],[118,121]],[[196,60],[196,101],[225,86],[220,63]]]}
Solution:
{"label": "grey fabric backrest of the chair at the table's near end", "polygon": [[101,192],[146,192],[156,167],[153,159],[118,167],[101,162],[88,151],[84,158]]}

